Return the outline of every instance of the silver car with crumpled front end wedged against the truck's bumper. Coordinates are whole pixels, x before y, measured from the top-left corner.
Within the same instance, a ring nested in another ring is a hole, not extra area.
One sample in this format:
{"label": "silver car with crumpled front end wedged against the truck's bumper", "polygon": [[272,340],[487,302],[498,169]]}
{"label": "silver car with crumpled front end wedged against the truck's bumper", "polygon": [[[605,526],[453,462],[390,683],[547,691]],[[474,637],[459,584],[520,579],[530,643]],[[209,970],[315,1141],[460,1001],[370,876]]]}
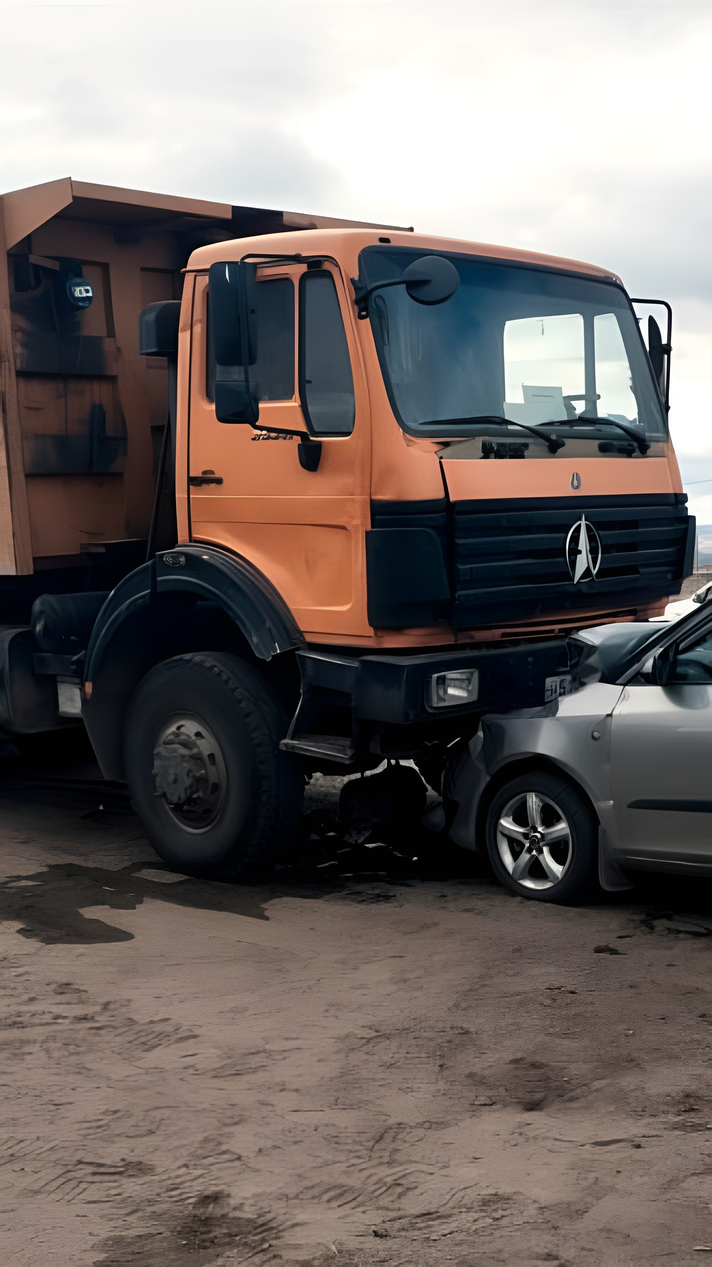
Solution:
{"label": "silver car with crumpled front end wedged against the truck's bumper", "polygon": [[635,869],[712,875],[712,611],[569,639],[540,708],[483,717],[443,794],[451,839],[513,893],[576,902]]}

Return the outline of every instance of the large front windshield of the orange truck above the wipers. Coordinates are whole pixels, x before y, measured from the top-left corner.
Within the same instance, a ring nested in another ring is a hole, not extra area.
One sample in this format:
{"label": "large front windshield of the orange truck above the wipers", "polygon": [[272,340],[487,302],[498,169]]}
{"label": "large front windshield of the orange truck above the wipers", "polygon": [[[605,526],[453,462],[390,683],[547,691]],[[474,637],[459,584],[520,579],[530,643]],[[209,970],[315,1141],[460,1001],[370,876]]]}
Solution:
{"label": "large front windshield of the orange truck above the wipers", "polygon": [[[422,255],[367,247],[360,276],[369,286],[399,277]],[[446,303],[414,303],[404,286],[379,290],[369,303],[403,427],[445,436],[488,418],[576,428],[604,428],[609,419],[644,428],[647,440],[666,438],[652,370],[620,286],[465,255],[447,258],[460,288]]]}

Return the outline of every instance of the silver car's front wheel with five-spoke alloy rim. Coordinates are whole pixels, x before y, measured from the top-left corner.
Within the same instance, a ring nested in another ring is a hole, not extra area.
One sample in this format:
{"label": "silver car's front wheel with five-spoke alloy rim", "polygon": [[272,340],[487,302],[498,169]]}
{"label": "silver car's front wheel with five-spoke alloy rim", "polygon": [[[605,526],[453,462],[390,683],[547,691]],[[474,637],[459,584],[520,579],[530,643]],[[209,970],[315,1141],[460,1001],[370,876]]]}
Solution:
{"label": "silver car's front wheel with five-spoke alloy rim", "polygon": [[556,774],[532,770],[499,788],[485,834],[494,874],[512,893],[569,903],[593,893],[598,822],[584,798]]}

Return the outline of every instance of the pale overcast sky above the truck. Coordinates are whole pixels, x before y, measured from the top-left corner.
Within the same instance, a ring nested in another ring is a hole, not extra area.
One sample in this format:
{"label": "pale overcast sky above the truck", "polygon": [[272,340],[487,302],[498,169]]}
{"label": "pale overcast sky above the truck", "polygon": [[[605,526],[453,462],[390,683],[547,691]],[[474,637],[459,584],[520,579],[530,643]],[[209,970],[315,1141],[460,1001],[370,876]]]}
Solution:
{"label": "pale overcast sky above the truck", "polygon": [[[603,264],[673,302],[673,436],[685,479],[712,478],[711,0],[20,0],[0,18],[1,189],[73,176]],[[712,523],[712,479],[688,489]]]}

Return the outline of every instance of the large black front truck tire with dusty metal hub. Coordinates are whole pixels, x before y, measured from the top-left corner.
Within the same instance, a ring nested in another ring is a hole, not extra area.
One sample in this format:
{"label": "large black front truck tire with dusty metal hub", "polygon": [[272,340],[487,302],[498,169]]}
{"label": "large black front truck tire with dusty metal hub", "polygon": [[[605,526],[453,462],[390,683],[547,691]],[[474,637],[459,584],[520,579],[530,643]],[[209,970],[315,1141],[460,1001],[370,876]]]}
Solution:
{"label": "large black front truck tire with dusty metal hub", "polygon": [[275,693],[236,655],[180,655],[146,674],[128,708],[124,769],[168,867],[228,879],[290,845],[304,777],[280,751],[286,730]]}

